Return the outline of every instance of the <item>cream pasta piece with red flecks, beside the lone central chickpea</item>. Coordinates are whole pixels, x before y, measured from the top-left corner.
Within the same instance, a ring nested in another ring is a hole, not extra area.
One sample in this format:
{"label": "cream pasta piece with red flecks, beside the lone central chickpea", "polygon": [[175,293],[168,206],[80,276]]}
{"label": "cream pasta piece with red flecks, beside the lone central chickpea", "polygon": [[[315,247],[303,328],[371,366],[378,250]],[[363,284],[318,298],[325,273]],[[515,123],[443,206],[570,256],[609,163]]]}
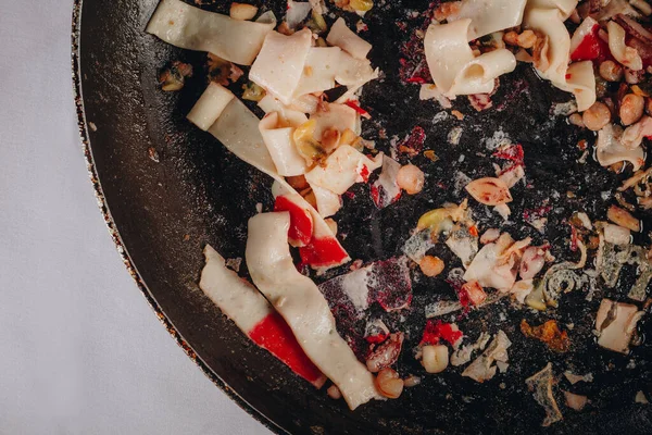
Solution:
{"label": "cream pasta piece with red flecks, beside the lone central chickpea", "polygon": [[319,164],[305,174],[305,179],[313,187],[323,187],[334,194],[342,195],[353,184],[364,181],[364,174],[383,165],[383,153],[369,159],[349,145],[340,146],[330,154],[324,164]]}

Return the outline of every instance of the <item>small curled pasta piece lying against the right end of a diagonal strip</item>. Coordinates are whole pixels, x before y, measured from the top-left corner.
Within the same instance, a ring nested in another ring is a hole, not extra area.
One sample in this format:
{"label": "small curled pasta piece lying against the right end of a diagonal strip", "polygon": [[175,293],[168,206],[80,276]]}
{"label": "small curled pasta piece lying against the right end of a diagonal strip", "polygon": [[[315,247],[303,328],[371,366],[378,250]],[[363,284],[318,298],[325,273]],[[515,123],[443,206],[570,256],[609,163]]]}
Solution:
{"label": "small curled pasta piece lying against the right end of a diagonal strip", "polygon": [[259,130],[274,161],[276,172],[283,176],[302,175],[305,173],[308,165],[294,145],[292,138],[294,128],[278,128],[278,123],[277,112],[269,113],[259,123]]}

